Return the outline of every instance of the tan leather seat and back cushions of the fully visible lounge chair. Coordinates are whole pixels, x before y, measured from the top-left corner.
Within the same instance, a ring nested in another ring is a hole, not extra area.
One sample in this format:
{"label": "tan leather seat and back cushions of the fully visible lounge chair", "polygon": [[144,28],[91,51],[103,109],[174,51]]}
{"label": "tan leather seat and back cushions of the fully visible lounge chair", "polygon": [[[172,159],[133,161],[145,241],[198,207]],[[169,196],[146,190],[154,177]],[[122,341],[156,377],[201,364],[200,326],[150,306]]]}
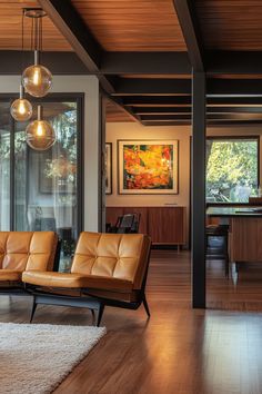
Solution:
{"label": "tan leather seat and back cushions of the fully visible lounge chair", "polygon": [[81,233],[71,274],[27,270],[22,280],[52,288],[103,289],[135,296],[149,253],[150,238],[142,234]]}

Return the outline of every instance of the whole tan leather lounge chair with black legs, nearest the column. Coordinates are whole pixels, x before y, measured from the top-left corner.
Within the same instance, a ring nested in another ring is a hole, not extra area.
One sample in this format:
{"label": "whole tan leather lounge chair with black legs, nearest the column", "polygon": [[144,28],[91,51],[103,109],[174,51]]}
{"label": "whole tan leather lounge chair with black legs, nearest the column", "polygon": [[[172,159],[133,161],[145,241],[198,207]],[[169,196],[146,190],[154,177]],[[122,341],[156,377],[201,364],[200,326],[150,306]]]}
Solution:
{"label": "whole tan leather lounge chair with black legs, nearest the column", "polygon": [[98,326],[105,305],[137,309],[143,303],[150,316],[144,294],[150,246],[142,234],[82,233],[71,273],[23,273],[34,296],[31,319],[38,304],[95,309]]}

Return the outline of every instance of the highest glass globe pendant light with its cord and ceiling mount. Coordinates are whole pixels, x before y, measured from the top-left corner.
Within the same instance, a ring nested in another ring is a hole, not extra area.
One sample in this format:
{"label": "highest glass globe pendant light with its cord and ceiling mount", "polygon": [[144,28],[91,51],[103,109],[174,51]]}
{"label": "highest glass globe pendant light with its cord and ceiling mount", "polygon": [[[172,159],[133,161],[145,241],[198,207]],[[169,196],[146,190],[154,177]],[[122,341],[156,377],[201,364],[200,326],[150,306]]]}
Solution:
{"label": "highest glass globe pendant light with its cord and ceiling mount", "polygon": [[40,65],[42,50],[42,9],[24,9],[24,16],[32,19],[31,49],[34,51],[34,63],[26,68],[22,73],[24,90],[33,97],[44,97],[52,86],[52,75],[49,69]]}

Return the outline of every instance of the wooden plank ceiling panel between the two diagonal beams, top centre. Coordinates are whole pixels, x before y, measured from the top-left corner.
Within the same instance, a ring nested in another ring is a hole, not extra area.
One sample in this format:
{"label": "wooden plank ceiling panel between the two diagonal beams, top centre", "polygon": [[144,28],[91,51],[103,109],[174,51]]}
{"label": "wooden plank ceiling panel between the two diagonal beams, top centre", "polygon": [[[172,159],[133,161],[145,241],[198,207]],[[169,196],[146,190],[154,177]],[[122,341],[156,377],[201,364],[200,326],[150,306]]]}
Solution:
{"label": "wooden plank ceiling panel between the two diagonal beams, top centre", "polygon": [[171,0],[72,0],[107,51],[185,51]]}

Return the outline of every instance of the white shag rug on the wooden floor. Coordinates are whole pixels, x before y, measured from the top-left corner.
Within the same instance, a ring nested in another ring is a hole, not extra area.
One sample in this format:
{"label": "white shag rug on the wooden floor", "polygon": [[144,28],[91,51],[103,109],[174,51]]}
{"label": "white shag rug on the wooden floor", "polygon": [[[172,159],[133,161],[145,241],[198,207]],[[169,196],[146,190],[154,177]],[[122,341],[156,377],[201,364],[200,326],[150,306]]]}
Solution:
{"label": "white shag rug on the wooden floor", "polygon": [[0,323],[0,393],[51,393],[104,334],[103,327]]}

